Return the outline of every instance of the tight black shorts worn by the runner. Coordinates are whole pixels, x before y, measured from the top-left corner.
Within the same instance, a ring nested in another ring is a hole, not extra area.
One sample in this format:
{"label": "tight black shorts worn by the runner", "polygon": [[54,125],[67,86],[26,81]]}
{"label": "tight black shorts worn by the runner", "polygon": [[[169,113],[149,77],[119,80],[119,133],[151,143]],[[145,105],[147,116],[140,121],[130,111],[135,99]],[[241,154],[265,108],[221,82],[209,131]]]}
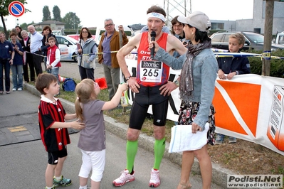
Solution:
{"label": "tight black shorts worn by the runner", "polygon": [[152,105],[153,124],[156,126],[166,124],[169,96],[160,95],[161,86],[144,87],[140,85],[139,93],[135,93],[131,108],[130,128],[141,130],[149,105]]}

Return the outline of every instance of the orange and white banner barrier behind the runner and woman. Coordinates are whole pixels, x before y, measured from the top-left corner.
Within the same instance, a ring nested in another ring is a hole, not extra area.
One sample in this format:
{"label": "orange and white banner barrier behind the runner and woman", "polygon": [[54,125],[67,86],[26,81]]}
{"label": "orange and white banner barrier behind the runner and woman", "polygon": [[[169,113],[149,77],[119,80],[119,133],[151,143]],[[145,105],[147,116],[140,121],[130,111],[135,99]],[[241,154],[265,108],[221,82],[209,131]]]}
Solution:
{"label": "orange and white banner barrier behind the runner and woman", "polygon": [[[135,77],[137,60],[125,59]],[[170,70],[169,81],[177,80],[180,70]],[[128,91],[132,104],[135,93]],[[179,89],[169,97],[167,119],[177,121]],[[216,133],[261,144],[284,156],[284,79],[255,74],[236,75],[232,80],[217,80],[213,104]],[[148,109],[152,114],[152,107]]]}

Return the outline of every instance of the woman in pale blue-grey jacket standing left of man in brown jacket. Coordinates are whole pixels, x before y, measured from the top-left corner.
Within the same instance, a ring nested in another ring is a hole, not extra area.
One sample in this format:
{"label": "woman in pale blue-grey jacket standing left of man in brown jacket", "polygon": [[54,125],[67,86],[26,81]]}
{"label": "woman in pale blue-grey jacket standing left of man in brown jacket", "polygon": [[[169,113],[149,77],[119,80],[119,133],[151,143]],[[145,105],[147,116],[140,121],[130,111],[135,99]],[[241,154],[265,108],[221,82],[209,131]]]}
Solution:
{"label": "woman in pale blue-grey jacket standing left of man in brown jacket", "polygon": [[95,58],[97,56],[97,45],[92,38],[92,33],[86,27],[80,31],[79,47],[76,50],[78,56],[78,67],[81,80],[89,78],[95,80]]}

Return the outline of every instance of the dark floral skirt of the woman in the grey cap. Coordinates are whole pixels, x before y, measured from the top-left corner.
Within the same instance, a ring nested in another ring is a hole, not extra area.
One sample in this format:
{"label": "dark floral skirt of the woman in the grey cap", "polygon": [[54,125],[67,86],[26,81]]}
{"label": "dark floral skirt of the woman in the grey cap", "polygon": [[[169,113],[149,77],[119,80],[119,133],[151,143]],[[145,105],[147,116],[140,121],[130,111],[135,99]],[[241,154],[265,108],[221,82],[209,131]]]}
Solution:
{"label": "dark floral skirt of the woman in the grey cap", "polygon": [[[189,104],[184,104],[182,102],[181,107],[179,109],[179,120],[178,124],[180,125],[191,125],[196,117],[200,107],[200,102],[190,102]],[[209,111],[209,130],[207,133],[207,144],[214,145],[215,144],[215,109],[211,104]]]}

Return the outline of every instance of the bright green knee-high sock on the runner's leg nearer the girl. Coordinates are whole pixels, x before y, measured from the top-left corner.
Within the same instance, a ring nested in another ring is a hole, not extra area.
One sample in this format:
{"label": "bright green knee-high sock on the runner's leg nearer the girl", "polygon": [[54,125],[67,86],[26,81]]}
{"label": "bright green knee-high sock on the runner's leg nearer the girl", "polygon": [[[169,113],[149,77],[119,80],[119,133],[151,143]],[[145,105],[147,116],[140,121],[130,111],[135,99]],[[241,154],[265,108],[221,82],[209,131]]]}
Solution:
{"label": "bright green knee-high sock on the runner's leg nearer the girl", "polygon": [[134,160],[138,149],[138,141],[127,141],[126,144],[126,156],[127,156],[127,165],[126,169],[129,173],[132,173],[132,168],[134,166]]}

